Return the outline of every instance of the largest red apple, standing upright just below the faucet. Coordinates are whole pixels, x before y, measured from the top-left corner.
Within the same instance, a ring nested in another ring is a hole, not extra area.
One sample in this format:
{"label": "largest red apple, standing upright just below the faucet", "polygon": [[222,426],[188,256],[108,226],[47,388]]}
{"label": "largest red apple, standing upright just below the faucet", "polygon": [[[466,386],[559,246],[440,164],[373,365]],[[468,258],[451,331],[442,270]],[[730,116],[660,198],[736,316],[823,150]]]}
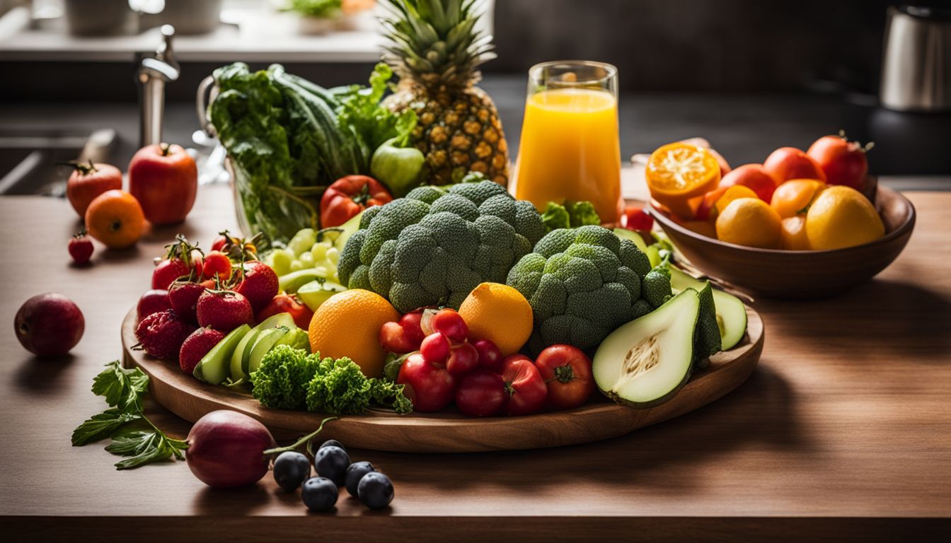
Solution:
{"label": "largest red apple, standing upright just below the faucet", "polygon": [[195,204],[198,166],[182,145],[146,145],[128,165],[128,191],[149,223],[181,223]]}

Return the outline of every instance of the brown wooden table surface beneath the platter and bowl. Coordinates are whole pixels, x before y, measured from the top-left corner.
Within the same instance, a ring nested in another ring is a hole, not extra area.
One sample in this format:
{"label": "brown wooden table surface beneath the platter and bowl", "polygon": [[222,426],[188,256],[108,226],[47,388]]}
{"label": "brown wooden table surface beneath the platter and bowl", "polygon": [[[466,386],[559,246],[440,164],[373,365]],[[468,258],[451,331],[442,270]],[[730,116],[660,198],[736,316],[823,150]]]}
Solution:
{"label": "brown wooden table surface beneath the platter and bowl", "polygon": [[[796,540],[951,536],[951,193],[909,193],[917,230],[902,257],[828,301],[761,300],[767,342],[747,382],[685,417],[560,449],[473,455],[354,453],[396,483],[390,511],[341,496],[306,514],[270,477],[214,491],[184,463],[117,472],[102,444],[69,435],[101,411],[89,392],[121,355],[123,317],[151,259],[176,232],[204,246],[235,218],[227,189],[203,186],[187,223],[128,251],[97,245],[68,264],[79,226],[63,201],[0,198],[0,533],[45,541],[406,541],[505,539]],[[19,305],[58,291],[86,314],[65,360],[33,359],[10,333]],[[158,406],[149,416],[184,436]],[[497,535],[494,535],[497,536]],[[9,540],[18,540],[9,539]]]}

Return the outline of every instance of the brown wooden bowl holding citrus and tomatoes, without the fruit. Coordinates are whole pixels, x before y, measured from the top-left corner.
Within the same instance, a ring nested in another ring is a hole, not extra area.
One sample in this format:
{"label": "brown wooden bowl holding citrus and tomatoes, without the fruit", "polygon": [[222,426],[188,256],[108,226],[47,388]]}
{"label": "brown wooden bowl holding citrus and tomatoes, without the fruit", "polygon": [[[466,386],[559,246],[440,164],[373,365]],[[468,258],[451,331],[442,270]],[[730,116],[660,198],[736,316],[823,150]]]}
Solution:
{"label": "brown wooden bowl holding citrus and tomatoes, without the fruit", "polygon": [[876,208],[885,235],[874,242],[828,251],[759,249],[721,242],[650,213],[693,266],[740,290],[767,298],[824,298],[868,281],[898,258],[915,227],[915,206],[884,186]]}

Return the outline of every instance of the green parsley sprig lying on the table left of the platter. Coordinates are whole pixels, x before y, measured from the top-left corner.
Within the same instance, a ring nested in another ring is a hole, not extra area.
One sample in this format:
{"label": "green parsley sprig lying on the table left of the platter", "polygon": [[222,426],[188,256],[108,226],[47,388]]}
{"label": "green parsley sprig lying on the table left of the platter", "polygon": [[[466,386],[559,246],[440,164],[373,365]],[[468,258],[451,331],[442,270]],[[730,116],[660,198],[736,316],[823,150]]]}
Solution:
{"label": "green parsley sprig lying on the table left of the platter", "polygon": [[87,418],[72,431],[73,446],[82,446],[111,437],[109,453],[126,456],[116,469],[128,470],[149,462],[183,459],[188,444],[165,436],[142,411],[148,394],[148,376],[139,368],[126,369],[113,360],[92,381],[92,393],[106,398],[108,409]]}

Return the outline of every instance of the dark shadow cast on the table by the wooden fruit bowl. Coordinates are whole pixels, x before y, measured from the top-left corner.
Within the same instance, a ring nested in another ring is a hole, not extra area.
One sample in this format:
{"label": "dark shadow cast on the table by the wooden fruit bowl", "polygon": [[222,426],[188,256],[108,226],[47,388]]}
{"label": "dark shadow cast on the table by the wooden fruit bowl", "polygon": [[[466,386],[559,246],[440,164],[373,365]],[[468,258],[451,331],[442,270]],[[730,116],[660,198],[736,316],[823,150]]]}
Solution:
{"label": "dark shadow cast on the table by the wooden fruit bowl", "polygon": [[[951,300],[918,285],[872,280],[836,298],[764,300],[757,301],[756,309],[767,320],[767,337],[800,338],[844,349],[844,355],[861,344],[865,351],[902,355],[896,363],[951,362]],[[784,314],[781,322],[769,319],[777,312]],[[922,356],[934,351],[939,356]]]}

